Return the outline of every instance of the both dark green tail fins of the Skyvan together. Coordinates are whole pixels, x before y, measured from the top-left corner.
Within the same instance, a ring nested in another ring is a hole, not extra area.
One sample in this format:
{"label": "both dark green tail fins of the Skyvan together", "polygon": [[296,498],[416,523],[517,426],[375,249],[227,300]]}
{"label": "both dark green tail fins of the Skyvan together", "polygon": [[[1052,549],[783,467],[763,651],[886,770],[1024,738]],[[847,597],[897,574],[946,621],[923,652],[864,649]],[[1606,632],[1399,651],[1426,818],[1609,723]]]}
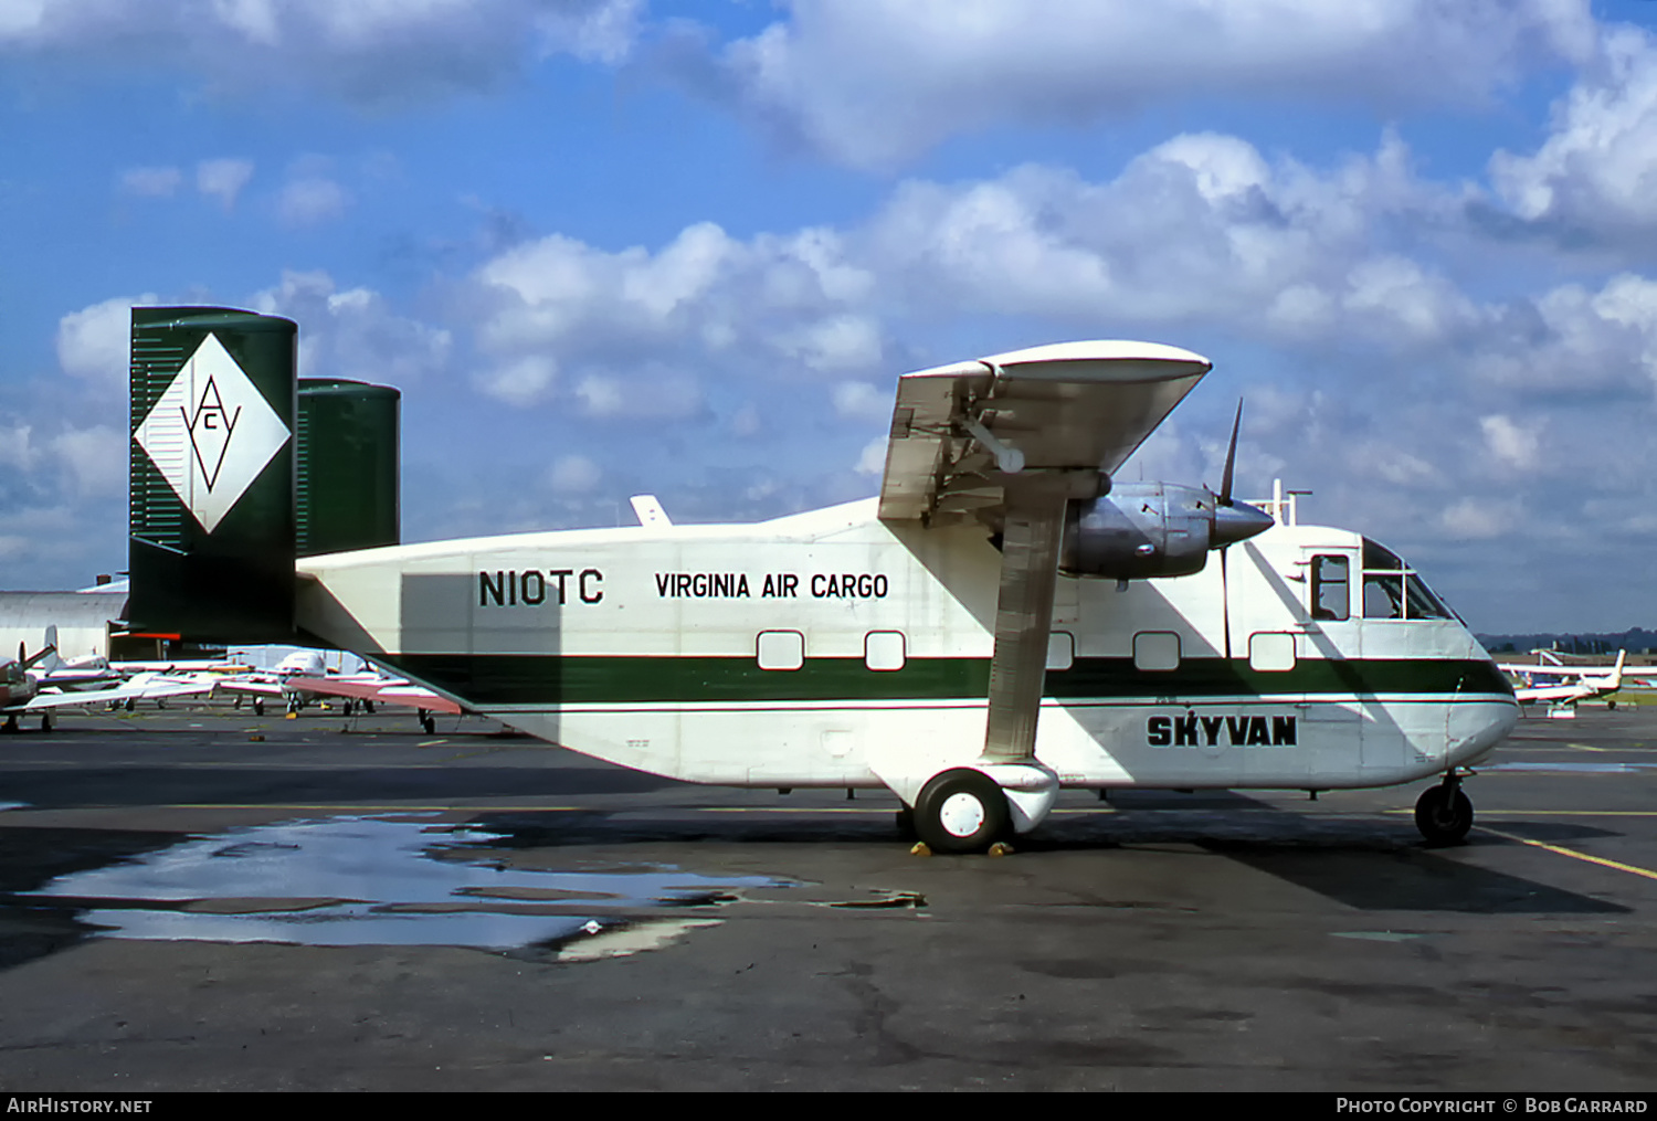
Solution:
{"label": "both dark green tail fins of the Skyvan together", "polygon": [[298,326],[133,308],[133,631],[293,642],[297,556],[398,541],[398,391],[297,376]]}

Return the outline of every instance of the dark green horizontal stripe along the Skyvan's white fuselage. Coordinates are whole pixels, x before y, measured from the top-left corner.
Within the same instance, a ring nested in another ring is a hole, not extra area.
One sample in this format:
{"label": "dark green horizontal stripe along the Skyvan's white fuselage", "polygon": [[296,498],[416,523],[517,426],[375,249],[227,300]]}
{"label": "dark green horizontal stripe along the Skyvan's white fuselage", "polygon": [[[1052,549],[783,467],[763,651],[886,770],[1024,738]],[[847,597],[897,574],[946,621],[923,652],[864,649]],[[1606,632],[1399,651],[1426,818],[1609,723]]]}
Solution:
{"label": "dark green horizontal stripe along the Skyvan's white fuselage", "polygon": [[[752,657],[393,654],[399,672],[462,700],[519,704],[694,704],[766,700],[953,700],[983,699],[988,657],[911,657],[898,671],[872,671],[860,657],[812,657],[794,671],[761,669]],[[1263,672],[1248,661],[1191,659],[1173,672],[1137,669],[1130,657],[1079,657],[1047,671],[1044,695],[1057,700],[1168,699],[1259,694],[1505,694],[1513,687],[1491,662],[1327,661]]]}

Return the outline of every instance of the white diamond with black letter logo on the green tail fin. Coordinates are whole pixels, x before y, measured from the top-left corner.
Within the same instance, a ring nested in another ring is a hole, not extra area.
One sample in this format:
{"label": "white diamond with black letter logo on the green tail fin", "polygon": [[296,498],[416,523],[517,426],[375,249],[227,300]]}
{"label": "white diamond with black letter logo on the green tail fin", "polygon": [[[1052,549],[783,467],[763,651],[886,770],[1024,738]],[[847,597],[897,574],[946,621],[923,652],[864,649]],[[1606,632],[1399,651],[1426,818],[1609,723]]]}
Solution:
{"label": "white diamond with black letter logo on the green tail fin", "polygon": [[133,439],[212,533],[288,442],[288,427],[209,334]]}

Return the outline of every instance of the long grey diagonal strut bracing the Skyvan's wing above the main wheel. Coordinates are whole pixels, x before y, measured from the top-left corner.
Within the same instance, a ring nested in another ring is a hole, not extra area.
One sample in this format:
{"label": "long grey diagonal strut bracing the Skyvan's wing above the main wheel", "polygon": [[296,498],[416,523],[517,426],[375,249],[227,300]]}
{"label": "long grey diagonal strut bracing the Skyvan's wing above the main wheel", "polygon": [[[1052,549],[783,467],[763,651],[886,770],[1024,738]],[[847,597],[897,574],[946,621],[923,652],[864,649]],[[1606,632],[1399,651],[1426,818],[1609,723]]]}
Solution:
{"label": "long grey diagonal strut bracing the Skyvan's wing above the main wheel", "polygon": [[1036,757],[1036,719],[1047,681],[1047,636],[1059,580],[1065,502],[1097,493],[1099,472],[1029,472],[1006,480],[996,649],[989,662],[984,760]]}

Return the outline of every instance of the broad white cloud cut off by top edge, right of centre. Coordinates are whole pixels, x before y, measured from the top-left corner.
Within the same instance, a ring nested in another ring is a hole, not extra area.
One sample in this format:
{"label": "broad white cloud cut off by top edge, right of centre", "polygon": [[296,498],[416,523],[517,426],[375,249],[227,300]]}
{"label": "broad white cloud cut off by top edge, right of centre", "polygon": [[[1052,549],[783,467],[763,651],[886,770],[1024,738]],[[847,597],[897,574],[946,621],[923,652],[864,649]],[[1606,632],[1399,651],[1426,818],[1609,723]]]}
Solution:
{"label": "broad white cloud cut off by top edge, right of centre", "polygon": [[1211,94],[1481,104],[1592,50],[1581,0],[792,0],[721,65],[828,156],[903,162],[999,124],[1077,124]]}

